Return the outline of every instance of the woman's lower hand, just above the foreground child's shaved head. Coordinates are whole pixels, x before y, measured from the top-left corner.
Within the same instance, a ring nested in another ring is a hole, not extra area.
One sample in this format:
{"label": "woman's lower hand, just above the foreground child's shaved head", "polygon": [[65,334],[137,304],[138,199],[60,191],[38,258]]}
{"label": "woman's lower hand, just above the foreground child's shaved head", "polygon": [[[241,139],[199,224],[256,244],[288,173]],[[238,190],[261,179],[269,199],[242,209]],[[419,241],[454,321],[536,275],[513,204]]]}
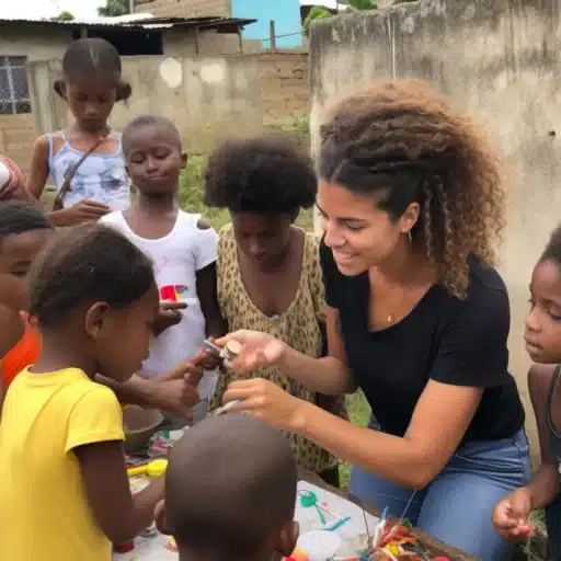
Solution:
{"label": "woman's lower hand, just above the foreground child's shaved head", "polygon": [[276,428],[297,432],[305,424],[308,403],[263,378],[230,383],[222,401],[228,403],[234,400],[240,400],[240,403],[233,405],[231,412],[250,413]]}

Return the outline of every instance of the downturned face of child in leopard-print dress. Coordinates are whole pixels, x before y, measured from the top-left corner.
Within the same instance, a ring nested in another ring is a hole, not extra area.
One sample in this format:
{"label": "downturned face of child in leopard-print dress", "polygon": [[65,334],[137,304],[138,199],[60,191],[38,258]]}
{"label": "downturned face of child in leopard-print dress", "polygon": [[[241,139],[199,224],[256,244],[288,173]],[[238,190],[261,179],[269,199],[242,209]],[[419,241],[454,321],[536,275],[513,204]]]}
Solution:
{"label": "downturned face of child in leopard-print dress", "polygon": [[231,218],[236,242],[244,255],[264,268],[282,261],[290,241],[290,216],[236,213]]}

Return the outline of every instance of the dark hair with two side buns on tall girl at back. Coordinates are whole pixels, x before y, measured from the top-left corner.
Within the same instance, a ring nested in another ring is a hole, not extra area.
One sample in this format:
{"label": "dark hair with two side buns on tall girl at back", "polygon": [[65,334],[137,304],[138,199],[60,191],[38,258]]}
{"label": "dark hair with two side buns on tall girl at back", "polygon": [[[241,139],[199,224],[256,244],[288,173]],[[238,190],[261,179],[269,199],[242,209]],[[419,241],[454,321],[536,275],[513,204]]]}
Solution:
{"label": "dark hair with two side buns on tall girl at back", "polygon": [[[107,41],[89,37],[75,41],[62,57],[62,73],[66,79],[89,76],[95,72],[110,75],[115,80],[116,101],[126,101],[133,94],[133,88],[123,81],[121,57],[117,49]],[[55,91],[62,98],[61,80],[55,81]]]}

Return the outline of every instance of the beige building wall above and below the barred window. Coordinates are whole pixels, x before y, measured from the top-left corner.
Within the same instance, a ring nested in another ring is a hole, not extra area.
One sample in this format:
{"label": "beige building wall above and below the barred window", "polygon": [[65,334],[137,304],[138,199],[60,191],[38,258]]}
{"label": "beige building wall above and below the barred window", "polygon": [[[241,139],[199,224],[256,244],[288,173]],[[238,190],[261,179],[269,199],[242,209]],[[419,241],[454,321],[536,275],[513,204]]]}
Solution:
{"label": "beige building wall above and below the barred window", "polygon": [[[26,56],[28,60],[60,58],[72,34],[64,30],[33,28],[24,35],[19,27],[0,25],[0,57]],[[0,115],[0,152],[28,172],[30,151],[35,141],[33,115]]]}

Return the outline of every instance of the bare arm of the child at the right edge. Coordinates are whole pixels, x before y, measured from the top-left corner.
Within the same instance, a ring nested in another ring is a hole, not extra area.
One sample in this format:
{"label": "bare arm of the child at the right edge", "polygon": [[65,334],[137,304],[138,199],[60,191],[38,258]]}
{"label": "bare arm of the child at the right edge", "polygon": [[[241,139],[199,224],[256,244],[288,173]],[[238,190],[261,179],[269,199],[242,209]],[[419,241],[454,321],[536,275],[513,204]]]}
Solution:
{"label": "bare arm of the child at the right edge", "polygon": [[554,369],[554,365],[534,365],[528,373],[528,388],[538,423],[541,451],[541,465],[528,484],[533,508],[543,508],[559,493],[559,468],[551,450],[547,411],[547,397]]}

